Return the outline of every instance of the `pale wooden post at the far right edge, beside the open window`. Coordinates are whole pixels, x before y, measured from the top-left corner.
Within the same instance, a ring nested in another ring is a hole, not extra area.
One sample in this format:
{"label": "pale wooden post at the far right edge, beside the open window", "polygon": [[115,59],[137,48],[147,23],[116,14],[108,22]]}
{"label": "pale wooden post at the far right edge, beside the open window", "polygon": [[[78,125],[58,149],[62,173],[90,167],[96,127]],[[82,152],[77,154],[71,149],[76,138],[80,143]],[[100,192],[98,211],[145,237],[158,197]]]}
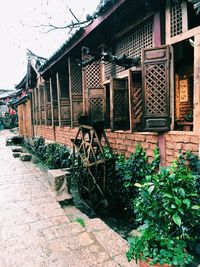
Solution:
{"label": "pale wooden post at the far right edge, beside the open window", "polygon": [[194,126],[200,133],[200,33],[194,36]]}

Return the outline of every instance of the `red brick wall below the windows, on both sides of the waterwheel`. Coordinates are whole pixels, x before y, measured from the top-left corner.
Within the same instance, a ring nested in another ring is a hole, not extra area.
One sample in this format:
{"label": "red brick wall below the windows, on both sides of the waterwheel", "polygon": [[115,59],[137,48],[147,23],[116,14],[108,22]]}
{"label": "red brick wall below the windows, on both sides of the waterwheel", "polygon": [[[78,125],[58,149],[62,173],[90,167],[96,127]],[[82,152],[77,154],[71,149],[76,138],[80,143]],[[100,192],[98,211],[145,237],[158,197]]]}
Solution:
{"label": "red brick wall below the windows, on both sides of the waterwheel", "polygon": [[[49,127],[37,126],[36,136],[43,136],[47,140],[53,140],[60,144],[72,147],[73,139],[77,133],[77,128],[70,127]],[[150,160],[153,158],[153,150],[156,146],[160,149],[162,165],[170,165],[177,158],[178,150],[183,152],[191,150],[199,153],[199,136],[193,132],[172,131],[163,135],[157,133],[129,133],[110,132],[106,133],[111,147],[119,154],[129,156],[135,151],[136,145],[140,143],[147,151]]]}

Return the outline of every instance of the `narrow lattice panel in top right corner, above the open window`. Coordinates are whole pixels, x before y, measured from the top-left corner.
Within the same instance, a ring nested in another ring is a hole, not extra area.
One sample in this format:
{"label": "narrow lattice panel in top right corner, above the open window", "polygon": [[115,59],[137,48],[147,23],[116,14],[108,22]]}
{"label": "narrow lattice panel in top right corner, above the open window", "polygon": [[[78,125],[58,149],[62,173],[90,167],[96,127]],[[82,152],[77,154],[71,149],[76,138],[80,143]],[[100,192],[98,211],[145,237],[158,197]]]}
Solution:
{"label": "narrow lattice panel in top right corner, above the open window", "polygon": [[182,6],[181,3],[170,3],[170,30],[171,37],[182,33]]}

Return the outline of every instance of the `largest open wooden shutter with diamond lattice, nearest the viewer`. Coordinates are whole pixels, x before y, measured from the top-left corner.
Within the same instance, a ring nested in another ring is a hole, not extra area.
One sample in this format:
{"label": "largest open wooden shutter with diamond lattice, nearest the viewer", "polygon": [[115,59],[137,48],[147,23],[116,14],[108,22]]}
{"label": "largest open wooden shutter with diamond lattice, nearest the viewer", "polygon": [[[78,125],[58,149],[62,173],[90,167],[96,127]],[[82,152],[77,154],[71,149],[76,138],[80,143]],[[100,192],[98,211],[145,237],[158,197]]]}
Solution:
{"label": "largest open wooden shutter with diamond lattice, nearest the viewer", "polygon": [[170,129],[169,57],[169,46],[142,51],[144,131]]}

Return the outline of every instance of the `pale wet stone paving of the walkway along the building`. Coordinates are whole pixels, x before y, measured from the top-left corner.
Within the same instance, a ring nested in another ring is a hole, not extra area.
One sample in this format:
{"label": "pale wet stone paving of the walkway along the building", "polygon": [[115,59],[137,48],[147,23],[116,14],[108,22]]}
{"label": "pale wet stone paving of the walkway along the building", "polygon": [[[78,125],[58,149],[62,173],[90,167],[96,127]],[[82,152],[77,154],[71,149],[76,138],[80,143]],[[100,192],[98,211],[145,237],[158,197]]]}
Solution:
{"label": "pale wet stone paving of the walkway along the building", "polygon": [[136,267],[124,256],[127,242],[104,222],[61,208],[46,173],[13,157],[10,136],[0,131],[0,267]]}

